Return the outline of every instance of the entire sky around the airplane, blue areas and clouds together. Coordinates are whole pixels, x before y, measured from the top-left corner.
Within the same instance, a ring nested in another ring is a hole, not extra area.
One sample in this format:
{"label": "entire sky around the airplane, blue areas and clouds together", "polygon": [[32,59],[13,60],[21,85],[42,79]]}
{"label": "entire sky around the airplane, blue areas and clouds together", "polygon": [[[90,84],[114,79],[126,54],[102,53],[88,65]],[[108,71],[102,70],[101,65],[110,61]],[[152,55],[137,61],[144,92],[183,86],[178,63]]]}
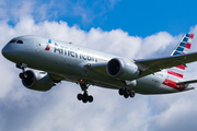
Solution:
{"label": "entire sky around the airplane, blue areas and clouds together", "polygon": [[[185,33],[197,34],[193,2],[0,0],[0,48],[15,36],[40,35],[130,59],[169,56]],[[197,37],[192,51],[197,51]],[[0,63],[0,131],[197,129],[196,90],[125,99],[117,91],[90,86],[94,102],[83,104],[77,100],[81,88],[74,83],[62,82],[46,93],[31,91],[22,85],[15,64],[2,56]],[[196,66],[188,64],[186,80],[197,79]]]}

